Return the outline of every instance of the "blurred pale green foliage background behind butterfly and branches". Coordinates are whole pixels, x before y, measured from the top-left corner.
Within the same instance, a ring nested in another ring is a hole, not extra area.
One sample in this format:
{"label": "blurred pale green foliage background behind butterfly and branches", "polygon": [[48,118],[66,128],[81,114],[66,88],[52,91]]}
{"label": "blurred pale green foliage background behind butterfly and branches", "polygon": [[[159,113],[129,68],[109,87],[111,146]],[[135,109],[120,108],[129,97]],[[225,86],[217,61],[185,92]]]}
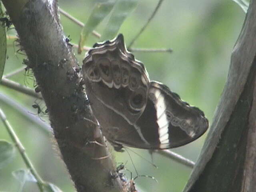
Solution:
{"label": "blurred pale green foliage background behind butterfly and branches", "polygon": [[[94,0],[59,0],[59,5],[72,16],[86,22],[95,2]],[[157,2],[156,0],[140,1],[136,10],[126,19],[120,29],[120,32],[124,34],[126,44],[129,44],[147,21]],[[72,43],[77,44],[81,28],[62,15],[60,18],[64,32],[67,36],[70,35]],[[205,112],[211,124],[228,74],[232,47],[240,33],[244,18],[244,12],[232,0],[166,0],[133,47],[172,48],[173,53],[134,52],[134,55],[145,64],[151,80],[163,82],[172,91],[177,92],[183,100],[198,106]],[[98,26],[98,32],[102,32],[107,21],[106,18]],[[7,36],[13,34],[15,34],[14,30],[7,32]],[[97,38],[91,35],[86,46],[92,46],[95,42]],[[14,54],[13,41],[8,40],[8,45],[8,60],[4,74],[23,66],[23,57]],[[84,52],[77,56],[80,64],[83,57]],[[29,77],[24,79],[24,72],[11,79],[21,84],[27,80],[27,86],[33,88],[33,80]],[[32,108],[34,98],[1,85],[0,93],[14,99],[36,114],[37,111]],[[44,106],[42,103],[40,105]],[[2,100],[0,100],[0,107],[6,113],[42,178],[56,184],[64,192],[74,191],[70,176],[60,160],[52,136]],[[47,122],[47,116],[42,118],[46,118]],[[205,136],[206,134],[195,142],[173,149],[173,151],[196,161]],[[2,122],[0,122],[0,139],[11,142]],[[136,152],[151,160],[147,150],[136,150]],[[156,169],[136,154],[130,153],[138,173],[154,176],[159,182],[156,183],[145,177],[136,179],[136,186],[141,192],[182,191],[189,178],[190,168],[159,154],[153,154],[154,164],[158,166]],[[135,177],[136,173],[128,154],[126,152],[116,153],[116,162],[125,163],[126,161],[126,168],[131,170]],[[14,160],[0,169],[0,191],[18,191],[19,183],[13,178],[12,171],[20,168],[26,168],[26,166],[20,155],[16,153]],[[127,173],[127,176],[130,178],[130,174]],[[35,184],[28,182],[23,191],[36,192],[38,188]]]}

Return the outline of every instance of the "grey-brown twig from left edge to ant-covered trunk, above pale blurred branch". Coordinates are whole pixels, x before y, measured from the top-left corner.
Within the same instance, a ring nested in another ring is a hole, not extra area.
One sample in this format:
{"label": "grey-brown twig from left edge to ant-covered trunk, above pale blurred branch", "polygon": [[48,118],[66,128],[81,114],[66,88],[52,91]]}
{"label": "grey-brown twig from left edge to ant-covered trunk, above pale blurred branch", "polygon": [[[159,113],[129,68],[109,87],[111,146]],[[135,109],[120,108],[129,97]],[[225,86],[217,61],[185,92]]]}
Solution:
{"label": "grey-brown twig from left edge to ant-covered trunk, above pale blurred branch", "polygon": [[42,95],[40,93],[36,93],[33,89],[28,88],[22,84],[19,84],[17,82],[14,82],[12,80],[6,79],[6,78],[2,78],[1,85],[6,86],[8,88],[11,88],[13,90],[16,90],[18,92],[22,92],[24,94],[27,94],[29,96],[38,98],[38,99],[42,99]]}

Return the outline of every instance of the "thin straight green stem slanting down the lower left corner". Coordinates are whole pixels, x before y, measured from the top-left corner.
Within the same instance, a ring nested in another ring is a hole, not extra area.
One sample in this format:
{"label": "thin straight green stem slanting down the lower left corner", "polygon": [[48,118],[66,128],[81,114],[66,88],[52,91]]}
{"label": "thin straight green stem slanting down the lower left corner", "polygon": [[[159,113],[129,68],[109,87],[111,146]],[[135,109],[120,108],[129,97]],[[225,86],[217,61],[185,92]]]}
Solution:
{"label": "thin straight green stem slanting down the lower left corner", "polygon": [[43,192],[44,191],[44,181],[39,176],[39,174],[36,172],[36,169],[34,168],[32,162],[30,161],[30,159],[28,158],[28,155],[25,152],[24,146],[22,145],[18,136],[14,132],[12,126],[10,125],[8,120],[6,119],[6,116],[5,116],[5,114],[4,114],[4,112],[2,111],[1,108],[0,108],[0,118],[2,119],[2,122],[4,123],[4,126],[6,127],[6,130],[8,131],[10,137],[12,138],[12,141],[17,146],[17,148],[20,152],[20,155],[22,156],[22,159],[24,160],[24,163],[26,164],[27,168],[30,170],[30,172],[36,178],[36,181],[37,181],[36,183],[38,185],[38,188],[40,189],[41,192]]}

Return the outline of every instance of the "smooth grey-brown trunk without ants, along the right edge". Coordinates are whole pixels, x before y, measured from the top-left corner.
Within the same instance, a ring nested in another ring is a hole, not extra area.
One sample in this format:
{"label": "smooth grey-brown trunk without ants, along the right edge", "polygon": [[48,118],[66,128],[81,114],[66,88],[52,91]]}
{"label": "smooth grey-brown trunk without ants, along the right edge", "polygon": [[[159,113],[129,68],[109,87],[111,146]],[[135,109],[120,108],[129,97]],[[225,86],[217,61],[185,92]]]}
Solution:
{"label": "smooth grey-brown trunk without ants, along the right edge", "polygon": [[234,46],[213,123],[184,192],[256,191],[256,0]]}

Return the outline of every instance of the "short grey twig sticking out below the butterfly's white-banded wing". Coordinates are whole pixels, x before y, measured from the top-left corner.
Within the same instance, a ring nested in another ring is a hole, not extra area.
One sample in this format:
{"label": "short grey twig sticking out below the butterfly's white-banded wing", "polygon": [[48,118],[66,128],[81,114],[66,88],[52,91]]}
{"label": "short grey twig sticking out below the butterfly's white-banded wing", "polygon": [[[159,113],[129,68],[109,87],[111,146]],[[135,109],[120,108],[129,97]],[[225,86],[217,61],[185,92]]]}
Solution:
{"label": "short grey twig sticking out below the butterfly's white-banded wing", "polygon": [[189,168],[193,168],[195,163],[179,154],[176,154],[172,151],[169,151],[169,150],[157,150],[156,151],[157,153],[163,155],[163,156],[166,156],[168,158],[171,158],[172,160],[180,163],[180,164],[183,164],[185,166],[188,166]]}

